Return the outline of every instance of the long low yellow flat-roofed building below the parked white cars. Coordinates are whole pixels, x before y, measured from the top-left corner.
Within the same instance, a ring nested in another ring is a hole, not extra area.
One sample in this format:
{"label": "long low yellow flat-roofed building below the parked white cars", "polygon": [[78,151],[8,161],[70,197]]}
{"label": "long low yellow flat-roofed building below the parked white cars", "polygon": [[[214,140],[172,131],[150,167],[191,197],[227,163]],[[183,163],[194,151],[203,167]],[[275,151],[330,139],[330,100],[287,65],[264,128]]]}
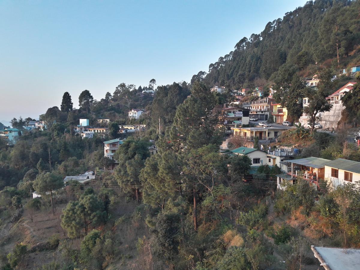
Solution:
{"label": "long low yellow flat-roofed building below the parked white cars", "polygon": [[234,135],[240,135],[247,140],[274,140],[278,138],[285,130],[283,127],[232,127]]}

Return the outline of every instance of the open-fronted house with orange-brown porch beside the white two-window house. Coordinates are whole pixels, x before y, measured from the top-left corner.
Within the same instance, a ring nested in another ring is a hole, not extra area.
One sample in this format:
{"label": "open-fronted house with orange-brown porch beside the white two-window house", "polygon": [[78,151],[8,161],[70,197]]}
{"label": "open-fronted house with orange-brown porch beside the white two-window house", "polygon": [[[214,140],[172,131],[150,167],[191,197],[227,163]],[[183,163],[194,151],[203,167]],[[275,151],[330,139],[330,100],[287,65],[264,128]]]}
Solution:
{"label": "open-fronted house with orange-brown porch beside the white two-window house", "polygon": [[309,185],[314,189],[321,190],[324,183],[320,184],[320,181],[325,180],[325,164],[329,161],[329,159],[317,157],[283,161],[282,164],[285,165],[286,174],[277,175],[278,188],[284,189],[283,183],[286,181],[289,184],[295,184],[297,183],[297,179],[301,178],[308,181]]}

